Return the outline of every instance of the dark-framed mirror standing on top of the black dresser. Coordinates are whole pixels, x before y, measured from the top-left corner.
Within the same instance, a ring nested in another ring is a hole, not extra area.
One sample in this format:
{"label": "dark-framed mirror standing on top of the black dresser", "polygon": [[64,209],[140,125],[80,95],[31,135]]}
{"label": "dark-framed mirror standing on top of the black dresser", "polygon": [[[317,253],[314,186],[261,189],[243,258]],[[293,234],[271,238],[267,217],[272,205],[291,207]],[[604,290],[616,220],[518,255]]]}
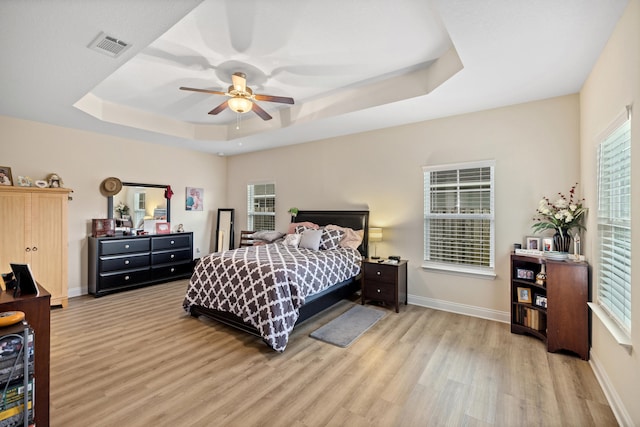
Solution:
{"label": "dark-framed mirror standing on top of the black dresser", "polygon": [[[171,222],[171,199],[167,199],[167,185],[123,182],[122,190],[107,198],[107,218],[115,218],[121,226],[141,229],[145,219]],[[118,206],[127,209],[116,212]],[[126,213],[125,213],[126,212]]]}

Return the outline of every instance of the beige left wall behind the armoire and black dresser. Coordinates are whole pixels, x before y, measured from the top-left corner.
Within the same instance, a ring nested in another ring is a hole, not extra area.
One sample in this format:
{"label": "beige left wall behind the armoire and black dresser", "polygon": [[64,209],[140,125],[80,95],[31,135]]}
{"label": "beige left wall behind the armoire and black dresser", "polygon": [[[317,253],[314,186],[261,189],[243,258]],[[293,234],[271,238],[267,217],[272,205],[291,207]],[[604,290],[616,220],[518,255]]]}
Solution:
{"label": "beige left wall behind the armoire and black dresser", "polygon": [[[100,183],[122,181],[171,185],[172,229],[194,232],[196,249],[210,252],[217,209],[226,202],[226,159],[167,146],[0,116],[0,164],[18,175],[42,179],[57,173],[73,189],[69,202],[69,295],[87,293],[87,236],[91,219],[105,218]],[[205,210],[187,212],[185,187],[204,188]],[[46,287],[46,286],[45,286]]]}

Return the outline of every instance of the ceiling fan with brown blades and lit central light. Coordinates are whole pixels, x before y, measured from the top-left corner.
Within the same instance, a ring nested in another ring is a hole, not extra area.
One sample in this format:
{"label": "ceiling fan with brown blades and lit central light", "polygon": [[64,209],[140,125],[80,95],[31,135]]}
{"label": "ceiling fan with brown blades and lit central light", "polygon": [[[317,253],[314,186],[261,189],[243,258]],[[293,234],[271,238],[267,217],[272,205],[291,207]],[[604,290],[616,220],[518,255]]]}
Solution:
{"label": "ceiling fan with brown blades and lit central light", "polygon": [[191,90],[193,92],[210,93],[212,95],[226,95],[229,97],[222,104],[218,105],[213,110],[209,111],[209,114],[218,114],[225,108],[229,107],[230,110],[236,113],[246,113],[253,110],[263,120],[271,120],[272,117],[262,109],[255,101],[269,101],[269,102],[281,102],[283,104],[293,104],[293,98],[286,96],[272,96],[272,95],[259,95],[254,94],[250,87],[247,87],[247,76],[244,73],[233,73],[231,75],[232,85],[226,92],[220,92],[217,90],[208,89],[196,89],[192,87],[181,86],[180,90]]}

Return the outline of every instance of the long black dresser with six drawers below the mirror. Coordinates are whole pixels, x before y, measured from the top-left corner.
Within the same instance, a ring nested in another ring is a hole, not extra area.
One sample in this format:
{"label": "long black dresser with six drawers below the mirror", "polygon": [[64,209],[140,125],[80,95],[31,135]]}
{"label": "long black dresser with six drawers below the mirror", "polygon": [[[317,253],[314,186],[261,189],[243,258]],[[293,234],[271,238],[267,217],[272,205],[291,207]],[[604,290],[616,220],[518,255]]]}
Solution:
{"label": "long black dresser with six drawers below the mirror", "polygon": [[193,233],[89,237],[89,293],[97,297],[192,272]]}

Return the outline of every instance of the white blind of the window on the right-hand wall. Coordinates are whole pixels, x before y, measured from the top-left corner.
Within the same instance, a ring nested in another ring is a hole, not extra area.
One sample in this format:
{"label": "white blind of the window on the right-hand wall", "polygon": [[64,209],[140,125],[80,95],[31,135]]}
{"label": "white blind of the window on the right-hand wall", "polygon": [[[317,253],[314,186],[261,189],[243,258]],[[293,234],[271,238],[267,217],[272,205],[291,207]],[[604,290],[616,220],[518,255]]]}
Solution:
{"label": "white blind of the window on the right-hand wall", "polygon": [[598,305],[631,333],[631,123],[598,147]]}

